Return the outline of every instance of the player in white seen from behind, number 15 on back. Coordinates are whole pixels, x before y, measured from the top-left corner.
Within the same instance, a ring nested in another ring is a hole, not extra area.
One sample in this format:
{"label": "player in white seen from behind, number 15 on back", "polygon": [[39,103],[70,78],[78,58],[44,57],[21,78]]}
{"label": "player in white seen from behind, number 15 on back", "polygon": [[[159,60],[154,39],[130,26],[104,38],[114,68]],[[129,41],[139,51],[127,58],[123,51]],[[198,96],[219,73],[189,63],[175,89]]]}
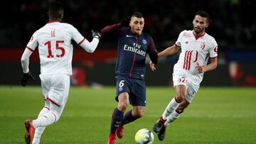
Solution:
{"label": "player in white seen from behind, number 15 on back", "polygon": [[46,126],[58,121],[63,112],[68,100],[70,74],[72,74],[73,45],[71,40],[75,40],[87,52],[94,52],[102,37],[101,33],[92,31],[93,39],[89,42],[70,24],[60,23],[63,19],[63,4],[60,1],[50,3],[48,15],[49,22],[33,33],[21,57],[24,73],[21,85],[26,86],[28,79],[34,79],[28,69],[29,57],[38,47],[41,86],[45,99],[45,105],[38,114],[38,118],[24,122],[26,143],[31,143],[34,129],[36,131],[33,144],[40,143]]}

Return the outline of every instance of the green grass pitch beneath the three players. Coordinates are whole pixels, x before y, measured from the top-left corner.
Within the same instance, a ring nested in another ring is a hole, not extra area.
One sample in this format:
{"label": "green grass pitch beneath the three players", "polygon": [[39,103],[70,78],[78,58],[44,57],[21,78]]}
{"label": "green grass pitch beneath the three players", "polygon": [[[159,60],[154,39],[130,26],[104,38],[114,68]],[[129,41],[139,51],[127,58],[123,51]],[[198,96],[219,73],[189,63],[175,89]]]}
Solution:
{"label": "green grass pitch beneath the three players", "polygon": [[[41,143],[106,144],[112,110],[117,106],[114,94],[114,87],[70,87],[60,121],[46,128]],[[124,126],[124,137],[117,144],[134,144],[140,128],[151,130],[174,89],[147,87],[146,96],[144,117]],[[0,143],[25,143],[23,121],[36,118],[41,111],[41,87],[2,86],[0,103]],[[201,87],[188,109],[168,127],[164,141],[154,133],[156,143],[256,143],[256,89]]]}

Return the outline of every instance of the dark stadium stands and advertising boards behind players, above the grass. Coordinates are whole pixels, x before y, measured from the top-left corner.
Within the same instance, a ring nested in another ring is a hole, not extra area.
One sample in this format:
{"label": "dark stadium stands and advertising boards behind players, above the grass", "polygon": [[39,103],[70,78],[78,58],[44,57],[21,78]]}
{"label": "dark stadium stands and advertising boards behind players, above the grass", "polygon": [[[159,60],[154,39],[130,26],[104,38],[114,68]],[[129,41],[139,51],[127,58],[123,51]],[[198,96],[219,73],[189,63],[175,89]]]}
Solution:
{"label": "dark stadium stands and advertising boards behind players, above the grass", "polygon": [[[253,0],[216,1],[63,1],[63,22],[71,23],[88,40],[90,31],[130,18],[134,11],[142,11],[146,25],[160,52],[173,45],[178,33],[192,28],[193,15],[198,10],[210,13],[210,27],[206,32],[218,43],[218,68],[207,72],[203,86],[256,86],[256,14]],[[48,1],[6,1],[1,6],[0,64],[4,85],[18,85],[22,77],[20,58],[34,31],[48,22]],[[8,13],[8,14],[7,14]],[[73,85],[114,85],[116,39],[105,35],[94,54],[75,45],[73,55]],[[146,67],[147,85],[171,85],[171,73],[178,55],[163,57],[156,72]],[[147,62],[148,63],[148,62]],[[38,52],[31,56],[31,72],[40,84]]]}

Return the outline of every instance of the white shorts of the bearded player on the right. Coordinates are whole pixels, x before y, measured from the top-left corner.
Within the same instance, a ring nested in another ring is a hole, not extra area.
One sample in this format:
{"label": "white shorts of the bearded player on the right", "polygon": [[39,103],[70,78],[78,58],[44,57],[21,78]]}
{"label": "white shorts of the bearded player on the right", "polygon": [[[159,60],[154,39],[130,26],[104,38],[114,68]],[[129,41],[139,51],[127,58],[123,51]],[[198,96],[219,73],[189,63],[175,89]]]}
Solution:
{"label": "white shorts of the bearded player on the right", "polygon": [[193,77],[188,77],[188,74],[184,74],[183,72],[174,72],[173,74],[174,87],[177,85],[185,85],[187,88],[186,92],[186,101],[189,103],[192,102],[194,96],[196,96],[196,92],[198,92],[199,84],[194,84],[195,79]]}

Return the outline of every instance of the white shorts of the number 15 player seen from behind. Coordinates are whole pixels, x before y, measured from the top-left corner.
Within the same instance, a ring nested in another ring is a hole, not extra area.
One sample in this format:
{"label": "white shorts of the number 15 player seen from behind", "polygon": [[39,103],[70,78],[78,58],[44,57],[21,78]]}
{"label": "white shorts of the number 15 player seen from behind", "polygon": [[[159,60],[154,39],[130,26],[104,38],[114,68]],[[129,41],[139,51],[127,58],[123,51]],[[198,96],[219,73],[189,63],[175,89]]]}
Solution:
{"label": "white shorts of the number 15 player seen from behind", "polygon": [[43,96],[57,106],[64,107],[68,101],[70,76],[68,74],[40,74]]}

